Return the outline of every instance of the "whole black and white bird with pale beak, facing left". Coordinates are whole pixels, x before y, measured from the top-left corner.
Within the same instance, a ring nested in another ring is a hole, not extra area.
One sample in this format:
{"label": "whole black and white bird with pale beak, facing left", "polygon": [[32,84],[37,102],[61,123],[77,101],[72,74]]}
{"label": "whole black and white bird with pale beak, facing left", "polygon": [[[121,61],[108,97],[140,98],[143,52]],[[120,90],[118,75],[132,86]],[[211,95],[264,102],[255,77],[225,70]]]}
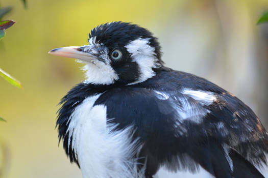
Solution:
{"label": "whole black and white bird with pale beak, facing left", "polygon": [[50,51],[85,64],[57,120],[84,178],[268,177],[259,118],[216,84],[164,67],[148,29],[105,23],[88,42]]}

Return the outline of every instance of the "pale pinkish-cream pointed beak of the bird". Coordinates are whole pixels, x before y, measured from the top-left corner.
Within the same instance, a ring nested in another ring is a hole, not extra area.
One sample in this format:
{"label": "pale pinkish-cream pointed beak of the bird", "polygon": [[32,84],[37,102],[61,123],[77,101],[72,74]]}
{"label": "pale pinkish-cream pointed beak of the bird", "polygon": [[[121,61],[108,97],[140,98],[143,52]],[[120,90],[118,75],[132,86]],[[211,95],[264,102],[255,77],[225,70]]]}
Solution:
{"label": "pale pinkish-cream pointed beak of the bird", "polygon": [[90,62],[94,57],[92,54],[88,52],[84,52],[83,47],[80,46],[69,46],[69,47],[62,47],[52,49],[48,53],[63,57],[70,57],[70,58],[78,58],[82,61]]}

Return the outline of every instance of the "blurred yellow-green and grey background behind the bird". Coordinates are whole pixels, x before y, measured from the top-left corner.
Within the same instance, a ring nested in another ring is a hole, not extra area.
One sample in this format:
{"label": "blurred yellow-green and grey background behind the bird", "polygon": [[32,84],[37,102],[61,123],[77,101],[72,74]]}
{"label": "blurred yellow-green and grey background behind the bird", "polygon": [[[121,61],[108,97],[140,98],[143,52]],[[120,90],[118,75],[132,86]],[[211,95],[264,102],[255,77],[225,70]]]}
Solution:
{"label": "blurred yellow-green and grey background behind the bird", "polygon": [[[167,67],[205,77],[249,105],[268,129],[268,24],[256,25],[267,0],[83,1],[0,0],[17,23],[0,41],[0,67],[20,90],[0,78],[3,177],[82,177],[58,146],[60,99],[84,78],[74,60],[47,54],[87,44],[90,29],[126,21],[152,31]],[[1,154],[0,154],[1,155]]]}

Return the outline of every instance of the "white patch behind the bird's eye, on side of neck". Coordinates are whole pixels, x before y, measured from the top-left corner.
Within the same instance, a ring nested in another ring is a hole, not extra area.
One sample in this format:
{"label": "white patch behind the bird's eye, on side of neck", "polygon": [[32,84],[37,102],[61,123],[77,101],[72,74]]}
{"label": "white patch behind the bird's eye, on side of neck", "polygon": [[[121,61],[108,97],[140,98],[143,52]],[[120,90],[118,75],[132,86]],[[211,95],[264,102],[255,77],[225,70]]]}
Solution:
{"label": "white patch behind the bird's eye, on side of neck", "polygon": [[156,54],[154,52],[155,48],[149,45],[149,40],[150,39],[138,38],[125,46],[133,57],[133,61],[138,64],[140,70],[139,79],[130,84],[136,84],[152,78],[155,76],[153,68],[159,68],[160,66],[157,63]]}

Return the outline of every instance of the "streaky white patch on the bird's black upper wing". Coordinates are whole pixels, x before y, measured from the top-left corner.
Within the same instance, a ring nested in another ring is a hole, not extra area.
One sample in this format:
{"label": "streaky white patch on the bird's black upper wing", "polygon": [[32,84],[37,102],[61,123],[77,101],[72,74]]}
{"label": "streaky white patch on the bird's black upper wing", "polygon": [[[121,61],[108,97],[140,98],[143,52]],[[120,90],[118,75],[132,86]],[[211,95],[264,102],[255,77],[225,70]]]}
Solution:
{"label": "streaky white patch on the bird's black upper wing", "polygon": [[[153,91],[155,96],[159,100],[168,100],[171,106],[177,111],[178,117],[175,122],[175,128],[178,129],[176,136],[187,134],[187,128],[184,128],[183,122],[188,120],[195,123],[201,123],[203,117],[210,112],[204,105],[210,105],[216,100],[216,97],[212,92],[194,91],[188,88],[184,88],[180,92],[166,92],[166,91]],[[179,93],[183,94],[180,95]],[[223,123],[219,123],[216,126],[223,135],[228,134]]]}

